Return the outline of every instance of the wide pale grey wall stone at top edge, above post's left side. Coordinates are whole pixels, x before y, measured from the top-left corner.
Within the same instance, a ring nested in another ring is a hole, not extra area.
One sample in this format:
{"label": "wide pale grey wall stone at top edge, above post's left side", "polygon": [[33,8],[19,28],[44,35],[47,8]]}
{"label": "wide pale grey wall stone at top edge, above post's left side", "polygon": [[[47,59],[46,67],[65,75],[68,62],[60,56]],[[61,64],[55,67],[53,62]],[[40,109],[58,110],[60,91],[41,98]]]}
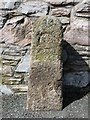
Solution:
{"label": "wide pale grey wall stone at top edge, above post's left side", "polygon": [[28,16],[47,15],[48,4],[40,1],[28,1],[20,5],[18,12],[21,12]]}

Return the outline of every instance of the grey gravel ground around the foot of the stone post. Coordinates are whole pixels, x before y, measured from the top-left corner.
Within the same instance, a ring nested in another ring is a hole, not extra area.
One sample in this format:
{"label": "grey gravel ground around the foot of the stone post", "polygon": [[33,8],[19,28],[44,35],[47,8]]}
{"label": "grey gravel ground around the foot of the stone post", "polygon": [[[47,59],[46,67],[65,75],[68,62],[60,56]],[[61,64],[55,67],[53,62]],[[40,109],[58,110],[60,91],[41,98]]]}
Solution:
{"label": "grey gravel ground around the foot of the stone post", "polygon": [[26,94],[3,94],[2,118],[88,118],[88,96],[90,93],[71,102],[62,111],[30,112],[26,109]]}

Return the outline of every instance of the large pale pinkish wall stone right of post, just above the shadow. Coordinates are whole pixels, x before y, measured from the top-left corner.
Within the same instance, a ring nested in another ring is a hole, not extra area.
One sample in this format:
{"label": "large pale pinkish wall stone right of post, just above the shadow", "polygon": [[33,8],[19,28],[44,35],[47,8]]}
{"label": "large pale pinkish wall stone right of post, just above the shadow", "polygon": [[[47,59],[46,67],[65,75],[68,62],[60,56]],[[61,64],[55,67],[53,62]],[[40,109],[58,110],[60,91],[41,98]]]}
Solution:
{"label": "large pale pinkish wall stone right of post, just above the shadow", "polygon": [[[88,23],[88,19],[73,21],[65,32],[64,40],[71,44],[90,45],[88,42],[88,32],[90,31]],[[76,36],[78,36],[77,39]]]}

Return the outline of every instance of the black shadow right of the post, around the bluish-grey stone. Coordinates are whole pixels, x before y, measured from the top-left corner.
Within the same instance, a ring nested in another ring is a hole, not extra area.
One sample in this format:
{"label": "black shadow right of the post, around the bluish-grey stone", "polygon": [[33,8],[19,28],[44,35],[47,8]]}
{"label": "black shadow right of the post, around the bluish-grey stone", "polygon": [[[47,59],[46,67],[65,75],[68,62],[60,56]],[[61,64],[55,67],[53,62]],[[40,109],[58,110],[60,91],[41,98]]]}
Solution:
{"label": "black shadow right of the post, around the bluish-grey stone", "polygon": [[[63,41],[62,46],[63,46],[63,51],[65,50],[67,52],[67,59],[64,60],[63,63],[63,74],[67,72],[73,72],[73,71],[80,72],[85,70],[88,70],[90,72],[90,68],[88,64],[68,42]],[[62,57],[65,58],[65,56]],[[90,79],[89,76],[88,79]],[[90,92],[90,83],[85,87],[64,85],[64,78],[63,78],[62,89],[63,89],[63,109],[64,109],[72,102],[79,100],[80,98],[85,96],[88,92]]]}

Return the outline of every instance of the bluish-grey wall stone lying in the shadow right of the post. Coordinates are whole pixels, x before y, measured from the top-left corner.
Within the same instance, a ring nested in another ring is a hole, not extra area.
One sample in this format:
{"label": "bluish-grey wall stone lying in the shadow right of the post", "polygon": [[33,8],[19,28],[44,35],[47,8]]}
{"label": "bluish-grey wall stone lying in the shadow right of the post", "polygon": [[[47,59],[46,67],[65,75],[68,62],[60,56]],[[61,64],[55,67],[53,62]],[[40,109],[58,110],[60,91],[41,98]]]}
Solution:
{"label": "bluish-grey wall stone lying in the shadow right of the post", "polygon": [[86,87],[90,83],[90,73],[87,71],[64,73],[64,85]]}

